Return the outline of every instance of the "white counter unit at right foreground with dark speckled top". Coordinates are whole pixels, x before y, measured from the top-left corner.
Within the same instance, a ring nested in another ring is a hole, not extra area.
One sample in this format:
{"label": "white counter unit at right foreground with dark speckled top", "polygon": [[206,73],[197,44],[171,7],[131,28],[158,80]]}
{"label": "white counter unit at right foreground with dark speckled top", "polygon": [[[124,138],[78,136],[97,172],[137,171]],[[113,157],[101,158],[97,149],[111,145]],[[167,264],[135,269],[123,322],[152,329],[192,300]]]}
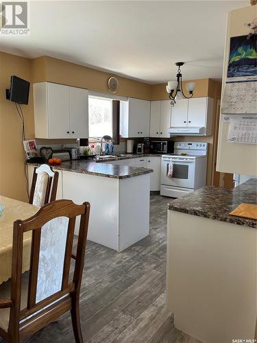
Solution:
{"label": "white counter unit at right foreground with dark speckled top", "polygon": [[169,204],[167,305],[202,342],[254,339],[257,221],[229,213],[256,204],[256,189],[203,187]]}

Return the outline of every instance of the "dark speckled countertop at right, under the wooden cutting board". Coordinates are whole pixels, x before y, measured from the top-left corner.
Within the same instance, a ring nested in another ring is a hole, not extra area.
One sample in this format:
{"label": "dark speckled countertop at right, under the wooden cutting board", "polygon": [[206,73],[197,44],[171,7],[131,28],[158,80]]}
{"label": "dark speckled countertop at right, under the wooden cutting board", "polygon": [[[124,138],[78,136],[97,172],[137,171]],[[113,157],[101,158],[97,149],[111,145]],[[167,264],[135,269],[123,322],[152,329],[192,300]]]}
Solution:
{"label": "dark speckled countertop at right, under the wooden cutting board", "polygon": [[203,187],[169,203],[169,209],[221,222],[257,228],[257,220],[236,217],[229,213],[242,202],[256,204],[257,179],[251,178],[234,189]]}

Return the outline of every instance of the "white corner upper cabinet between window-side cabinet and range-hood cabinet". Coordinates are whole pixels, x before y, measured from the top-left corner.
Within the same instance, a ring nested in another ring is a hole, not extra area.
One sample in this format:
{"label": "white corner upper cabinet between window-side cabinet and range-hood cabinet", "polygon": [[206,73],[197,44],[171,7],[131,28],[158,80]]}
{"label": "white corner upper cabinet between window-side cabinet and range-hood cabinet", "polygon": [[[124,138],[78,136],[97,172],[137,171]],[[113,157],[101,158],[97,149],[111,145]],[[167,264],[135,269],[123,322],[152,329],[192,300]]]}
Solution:
{"label": "white corner upper cabinet between window-side cabinet and range-hood cabinet", "polygon": [[150,137],[169,138],[171,126],[171,101],[158,100],[151,102]]}

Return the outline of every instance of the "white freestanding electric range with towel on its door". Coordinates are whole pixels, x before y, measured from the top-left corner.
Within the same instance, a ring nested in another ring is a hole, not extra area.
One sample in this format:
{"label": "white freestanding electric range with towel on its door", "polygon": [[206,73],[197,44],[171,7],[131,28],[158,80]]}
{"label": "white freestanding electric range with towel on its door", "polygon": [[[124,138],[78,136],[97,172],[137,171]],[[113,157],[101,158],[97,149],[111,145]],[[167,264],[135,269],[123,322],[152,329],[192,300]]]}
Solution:
{"label": "white freestanding electric range with towel on its door", "polygon": [[174,153],[162,155],[160,195],[181,198],[206,185],[208,143],[175,142]]}

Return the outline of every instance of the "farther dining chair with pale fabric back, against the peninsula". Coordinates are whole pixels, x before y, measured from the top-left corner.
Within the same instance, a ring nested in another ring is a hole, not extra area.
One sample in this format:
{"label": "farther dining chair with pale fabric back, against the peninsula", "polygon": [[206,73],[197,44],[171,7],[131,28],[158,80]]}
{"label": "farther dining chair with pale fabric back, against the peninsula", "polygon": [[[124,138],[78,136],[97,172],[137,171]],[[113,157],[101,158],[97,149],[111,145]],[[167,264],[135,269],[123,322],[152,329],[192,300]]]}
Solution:
{"label": "farther dining chair with pale fabric back, against the peninsula", "polygon": [[49,165],[34,167],[29,204],[41,207],[56,200],[58,177],[58,171],[53,171]]}

